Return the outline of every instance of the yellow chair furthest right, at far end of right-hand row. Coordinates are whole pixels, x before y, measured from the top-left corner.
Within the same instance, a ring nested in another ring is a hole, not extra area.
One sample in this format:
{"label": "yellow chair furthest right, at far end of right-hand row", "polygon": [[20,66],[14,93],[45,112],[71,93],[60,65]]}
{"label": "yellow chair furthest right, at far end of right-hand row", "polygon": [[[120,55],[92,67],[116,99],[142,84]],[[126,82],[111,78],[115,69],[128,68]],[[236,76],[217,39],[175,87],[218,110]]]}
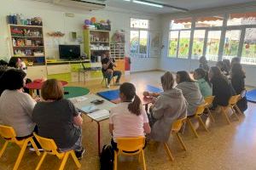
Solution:
{"label": "yellow chair furthest right, at far end of right-hand row", "polygon": [[[240,121],[239,116],[236,115],[236,111],[234,110],[234,107],[236,107],[236,108],[239,110],[239,108],[238,108],[237,105],[236,105],[236,103],[237,103],[237,101],[238,101],[239,99],[240,99],[240,95],[239,95],[239,94],[238,94],[238,95],[231,96],[231,97],[230,97],[230,100],[229,100],[229,105],[227,105],[227,106],[221,106],[221,112],[224,114],[224,117],[225,117],[226,121],[227,121],[229,124],[230,124],[230,118],[229,118],[229,116],[227,115],[227,111],[228,111],[229,108],[231,109],[232,113],[236,116],[236,119],[237,119],[238,121]],[[239,111],[240,111],[240,110],[239,110]]]}

